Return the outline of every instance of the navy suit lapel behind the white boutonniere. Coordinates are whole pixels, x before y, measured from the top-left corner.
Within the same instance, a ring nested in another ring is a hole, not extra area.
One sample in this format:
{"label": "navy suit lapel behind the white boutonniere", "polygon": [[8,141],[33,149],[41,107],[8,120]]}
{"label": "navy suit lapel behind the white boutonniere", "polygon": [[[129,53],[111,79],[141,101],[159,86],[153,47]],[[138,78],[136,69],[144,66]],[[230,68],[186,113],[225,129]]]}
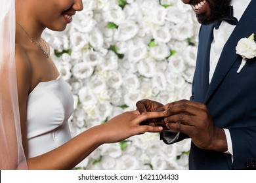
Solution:
{"label": "navy suit lapel behind the white boutonniere", "polygon": [[211,84],[209,85],[209,90],[205,97],[205,103],[207,103],[209,97],[211,97],[219,84],[221,84],[235,61],[237,59],[242,60],[242,58],[236,54],[236,45],[238,41],[243,37],[249,37],[252,33],[256,33],[256,0],[252,0],[251,3],[249,3],[242,18],[223,47],[223,52],[221,53],[221,57],[219,58]]}

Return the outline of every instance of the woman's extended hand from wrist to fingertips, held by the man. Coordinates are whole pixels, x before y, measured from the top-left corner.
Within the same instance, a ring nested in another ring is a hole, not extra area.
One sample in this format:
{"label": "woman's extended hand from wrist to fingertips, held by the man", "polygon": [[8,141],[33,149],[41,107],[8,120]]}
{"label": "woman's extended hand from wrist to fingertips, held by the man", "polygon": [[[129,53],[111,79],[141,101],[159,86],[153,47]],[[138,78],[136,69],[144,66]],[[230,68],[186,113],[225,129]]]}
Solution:
{"label": "woman's extended hand from wrist to fingertips, held by the man", "polygon": [[102,124],[102,141],[103,143],[113,143],[123,141],[133,135],[145,132],[160,132],[161,126],[140,125],[141,122],[152,118],[163,117],[163,112],[143,112],[138,110],[123,112],[112,118],[105,124]]}

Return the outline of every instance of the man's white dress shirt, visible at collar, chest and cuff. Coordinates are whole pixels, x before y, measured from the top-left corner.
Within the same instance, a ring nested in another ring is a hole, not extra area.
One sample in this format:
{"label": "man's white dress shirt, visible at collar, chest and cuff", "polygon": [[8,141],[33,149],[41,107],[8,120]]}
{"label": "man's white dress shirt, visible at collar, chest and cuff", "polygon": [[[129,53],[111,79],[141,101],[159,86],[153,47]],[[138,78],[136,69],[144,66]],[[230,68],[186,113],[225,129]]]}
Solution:
{"label": "man's white dress shirt, visible at collar, chest and cuff", "polygon": [[[245,9],[249,5],[251,0],[232,0],[230,5],[233,6],[234,14],[233,16],[240,20]],[[221,22],[219,29],[213,30],[213,42],[211,43],[211,52],[210,52],[210,71],[209,71],[209,83],[211,83],[211,78],[213,77],[215,68],[221,56],[224,44],[228,41],[232,31],[234,30],[235,25],[230,25],[226,22]],[[232,150],[232,141],[228,129],[224,129],[226,134],[226,141],[228,144],[228,151],[226,153],[233,155]]]}

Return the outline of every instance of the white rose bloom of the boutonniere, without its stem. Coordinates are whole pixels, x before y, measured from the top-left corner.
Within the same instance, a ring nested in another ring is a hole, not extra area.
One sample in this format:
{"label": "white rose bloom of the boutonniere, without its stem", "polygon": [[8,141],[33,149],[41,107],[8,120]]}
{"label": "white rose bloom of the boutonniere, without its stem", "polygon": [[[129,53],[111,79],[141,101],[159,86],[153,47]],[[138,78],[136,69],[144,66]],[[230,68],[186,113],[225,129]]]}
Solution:
{"label": "white rose bloom of the boutonniere, without its stem", "polygon": [[242,38],[236,46],[236,54],[243,58],[251,59],[256,57],[256,42],[251,39]]}

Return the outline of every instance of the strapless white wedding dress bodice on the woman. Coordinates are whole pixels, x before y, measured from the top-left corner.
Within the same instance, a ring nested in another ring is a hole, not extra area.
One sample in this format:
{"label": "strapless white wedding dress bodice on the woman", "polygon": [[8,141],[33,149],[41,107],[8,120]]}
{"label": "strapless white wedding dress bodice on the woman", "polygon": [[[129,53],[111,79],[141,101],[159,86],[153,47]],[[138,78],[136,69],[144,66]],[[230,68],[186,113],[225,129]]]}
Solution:
{"label": "strapless white wedding dress bodice on the woman", "polygon": [[71,139],[68,118],[74,100],[66,81],[40,82],[28,95],[27,138],[28,158],[39,156]]}

